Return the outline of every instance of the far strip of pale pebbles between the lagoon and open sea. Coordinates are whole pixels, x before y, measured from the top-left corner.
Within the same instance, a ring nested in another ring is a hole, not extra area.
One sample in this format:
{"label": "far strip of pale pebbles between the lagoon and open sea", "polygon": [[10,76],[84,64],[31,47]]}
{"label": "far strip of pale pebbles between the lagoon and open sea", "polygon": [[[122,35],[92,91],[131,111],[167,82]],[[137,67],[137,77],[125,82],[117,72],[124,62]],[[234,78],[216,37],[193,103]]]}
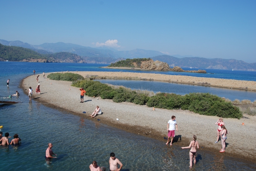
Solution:
{"label": "far strip of pale pebbles between the lagoon and open sea", "polygon": [[[118,68],[120,69],[120,67]],[[131,69],[133,70],[133,69]],[[140,69],[141,70],[141,69]],[[77,73],[77,72],[73,72]],[[96,73],[96,74],[95,74]],[[125,73],[124,76],[122,73]],[[96,79],[137,79],[146,81],[163,81],[178,84],[190,84],[209,87],[229,88],[245,91],[256,91],[256,81],[233,80],[223,78],[206,78],[186,75],[165,75],[137,72],[88,72],[88,75],[97,75]],[[106,76],[111,75],[111,76]]]}

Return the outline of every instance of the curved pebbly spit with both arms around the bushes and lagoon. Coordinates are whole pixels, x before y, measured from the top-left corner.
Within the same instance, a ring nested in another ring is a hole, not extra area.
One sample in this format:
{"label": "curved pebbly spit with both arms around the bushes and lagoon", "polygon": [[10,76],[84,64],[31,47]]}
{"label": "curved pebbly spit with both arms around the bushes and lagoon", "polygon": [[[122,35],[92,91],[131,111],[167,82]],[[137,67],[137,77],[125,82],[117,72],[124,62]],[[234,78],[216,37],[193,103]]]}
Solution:
{"label": "curved pebbly spit with both arms around the bushes and lagoon", "polygon": [[[74,72],[84,77],[97,75],[99,78],[141,78],[154,79],[157,81],[182,80],[190,82],[209,82],[214,85],[236,85],[246,86],[256,90],[255,81],[239,81],[225,80],[216,78],[198,78],[180,75],[161,75],[147,73],[131,73],[131,72]],[[46,77],[49,73],[46,73]],[[39,101],[42,104],[53,107],[61,111],[67,111],[83,118],[90,119],[96,124],[104,123],[116,128],[126,130],[131,133],[140,134],[150,138],[158,139],[166,142],[164,137],[167,134],[167,122],[171,116],[176,116],[178,131],[173,145],[187,146],[192,140],[193,134],[198,137],[200,150],[212,151],[217,156],[227,155],[239,157],[248,161],[256,162],[256,117],[247,115],[247,118],[242,119],[224,119],[229,134],[227,135],[227,148],[225,153],[219,153],[221,142],[217,144],[216,131],[218,120],[217,116],[203,116],[187,110],[166,110],[140,106],[133,103],[115,103],[112,100],[92,98],[85,96],[84,103],[80,103],[80,90],[77,87],[72,87],[70,81],[54,81],[47,78],[39,77],[41,84],[41,94],[35,95],[35,89],[38,83],[34,75],[24,78],[20,85],[23,91],[28,94],[28,89],[31,86],[34,90],[32,99]],[[29,101],[29,97],[28,97]],[[90,118],[96,105],[102,109],[103,114]],[[86,111],[86,114],[82,113]],[[116,119],[119,119],[118,121]],[[100,119],[98,121],[97,119]],[[242,125],[244,122],[244,125]],[[165,143],[163,143],[165,145]]]}

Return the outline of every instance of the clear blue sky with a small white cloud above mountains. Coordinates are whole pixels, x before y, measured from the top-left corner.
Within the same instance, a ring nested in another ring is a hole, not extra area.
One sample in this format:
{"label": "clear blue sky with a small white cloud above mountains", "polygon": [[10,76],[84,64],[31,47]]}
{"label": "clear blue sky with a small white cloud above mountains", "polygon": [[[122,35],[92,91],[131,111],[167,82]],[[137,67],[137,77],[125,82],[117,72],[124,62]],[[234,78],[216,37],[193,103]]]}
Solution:
{"label": "clear blue sky with a small white cloud above mountains", "polygon": [[256,0],[1,0],[0,39],[256,62]]}

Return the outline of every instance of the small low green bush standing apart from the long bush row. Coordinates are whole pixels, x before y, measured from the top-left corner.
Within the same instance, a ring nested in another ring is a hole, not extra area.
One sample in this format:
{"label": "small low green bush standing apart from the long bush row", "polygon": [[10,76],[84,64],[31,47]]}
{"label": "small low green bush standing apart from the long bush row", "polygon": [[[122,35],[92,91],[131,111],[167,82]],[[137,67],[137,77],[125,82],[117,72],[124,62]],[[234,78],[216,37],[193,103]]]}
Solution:
{"label": "small low green bush standing apart from the long bush row", "polygon": [[47,78],[51,80],[61,80],[61,81],[76,81],[76,80],[84,80],[84,77],[79,74],[74,73],[51,73],[47,75]]}

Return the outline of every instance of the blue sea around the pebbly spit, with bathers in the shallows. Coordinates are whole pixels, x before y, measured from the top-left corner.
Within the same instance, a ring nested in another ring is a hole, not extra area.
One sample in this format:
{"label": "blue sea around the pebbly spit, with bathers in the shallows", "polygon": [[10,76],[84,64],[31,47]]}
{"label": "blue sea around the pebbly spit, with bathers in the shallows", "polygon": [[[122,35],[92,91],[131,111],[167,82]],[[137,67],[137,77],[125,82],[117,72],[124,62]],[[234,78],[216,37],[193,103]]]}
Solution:
{"label": "blue sea around the pebbly spit, with bathers in the shallows", "polygon": [[[93,160],[96,160],[100,166],[108,168],[108,159],[111,152],[114,152],[116,157],[123,163],[123,171],[189,170],[189,150],[181,150],[175,144],[173,147],[167,147],[165,142],[127,133],[123,130],[100,124],[97,121],[92,122],[79,116],[71,115],[70,113],[62,113],[33,100],[29,103],[28,97],[18,87],[20,81],[26,76],[32,75],[34,69],[36,74],[41,74],[43,71],[67,70],[119,71],[98,68],[100,66],[106,65],[0,62],[0,96],[7,97],[14,94],[16,90],[20,92],[19,104],[0,105],[0,125],[4,126],[1,131],[3,133],[9,132],[10,136],[18,133],[22,139],[22,143],[18,147],[11,145],[8,147],[0,146],[1,170],[89,171],[89,165]],[[122,72],[126,71],[131,72],[130,70],[122,70]],[[236,79],[236,74],[233,75],[233,72],[236,71],[223,71],[224,73],[221,73],[219,70],[207,70],[207,72],[216,73],[208,74],[209,77],[214,75],[214,78]],[[177,74],[176,72],[164,73]],[[187,73],[187,75],[191,75],[191,73]],[[254,80],[256,78],[255,72],[239,71],[239,75],[242,76],[237,79],[256,81]],[[195,76],[198,76],[198,74],[195,74]],[[7,79],[10,79],[9,87],[6,86]],[[152,84],[153,81],[145,82],[151,84],[151,87],[163,84],[162,82],[156,84]],[[120,81],[118,84],[120,84]],[[128,85],[130,83],[125,84]],[[140,89],[148,89],[143,81],[132,84],[138,84]],[[178,87],[183,85],[177,84],[176,86],[178,91]],[[132,85],[130,87],[137,88],[132,87]],[[197,91],[193,90],[193,87],[197,86],[192,86],[191,91]],[[186,89],[186,87],[180,89]],[[167,91],[165,88],[152,90]],[[228,89],[221,89],[223,92],[226,90]],[[249,97],[246,99],[249,99]],[[52,159],[52,162],[47,165],[44,156],[49,142],[52,142],[52,149],[58,154],[58,158]],[[256,170],[256,163],[199,150],[195,170]]]}

